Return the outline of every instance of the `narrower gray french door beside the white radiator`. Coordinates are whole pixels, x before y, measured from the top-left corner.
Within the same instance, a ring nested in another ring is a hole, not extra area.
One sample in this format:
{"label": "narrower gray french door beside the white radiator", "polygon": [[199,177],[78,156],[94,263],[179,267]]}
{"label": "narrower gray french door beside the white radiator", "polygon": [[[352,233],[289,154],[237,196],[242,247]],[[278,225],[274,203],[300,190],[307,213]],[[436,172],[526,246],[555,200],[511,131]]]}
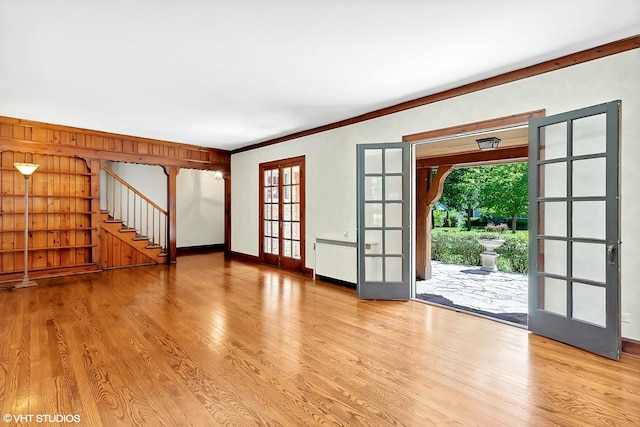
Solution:
{"label": "narrower gray french door beside the white radiator", "polygon": [[357,147],[358,298],[408,300],[409,146]]}

